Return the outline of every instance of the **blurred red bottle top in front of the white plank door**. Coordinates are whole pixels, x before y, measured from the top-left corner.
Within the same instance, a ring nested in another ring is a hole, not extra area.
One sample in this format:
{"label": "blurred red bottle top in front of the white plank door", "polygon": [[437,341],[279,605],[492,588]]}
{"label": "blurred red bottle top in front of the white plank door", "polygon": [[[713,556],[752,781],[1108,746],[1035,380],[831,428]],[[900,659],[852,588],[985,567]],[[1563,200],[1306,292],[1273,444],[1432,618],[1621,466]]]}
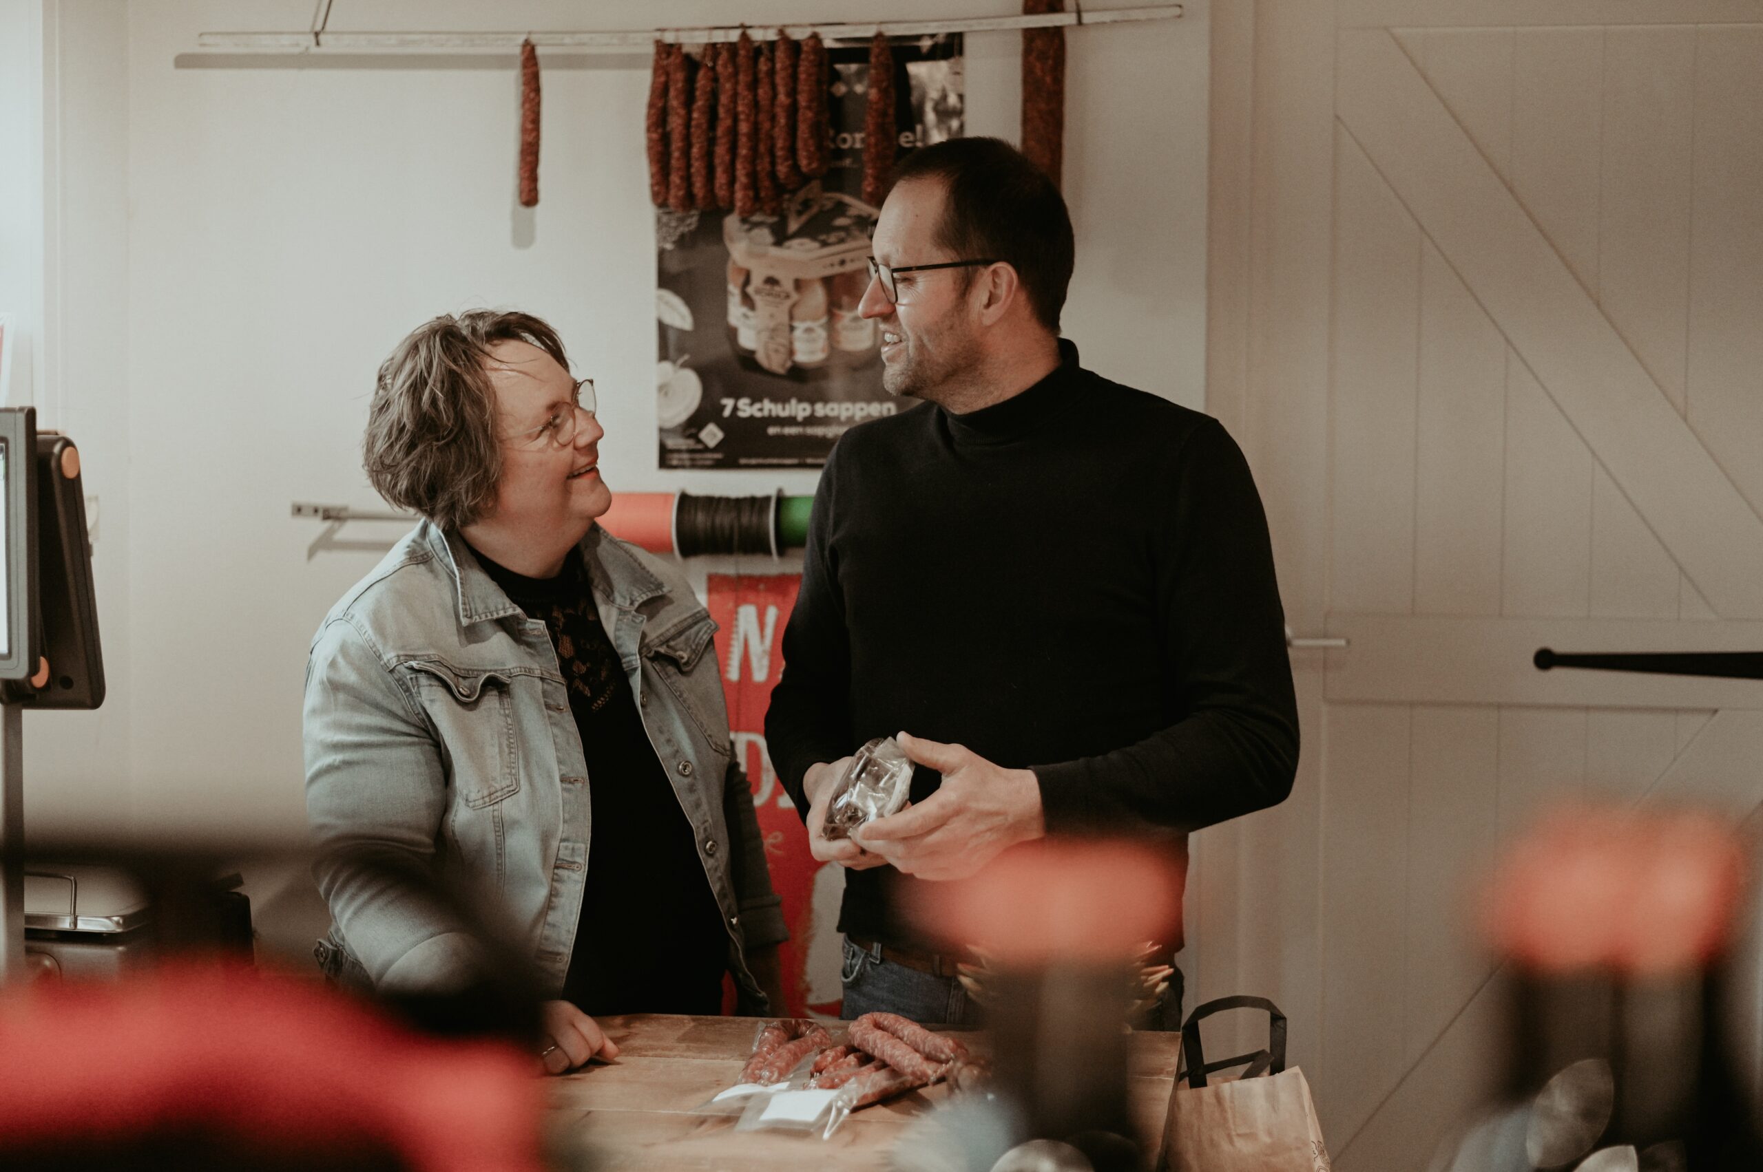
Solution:
{"label": "blurred red bottle top in front of the white plank door", "polygon": [[1731,943],[1744,886],[1744,848],[1710,814],[1569,807],[1500,864],[1483,925],[1546,973],[1682,973]]}

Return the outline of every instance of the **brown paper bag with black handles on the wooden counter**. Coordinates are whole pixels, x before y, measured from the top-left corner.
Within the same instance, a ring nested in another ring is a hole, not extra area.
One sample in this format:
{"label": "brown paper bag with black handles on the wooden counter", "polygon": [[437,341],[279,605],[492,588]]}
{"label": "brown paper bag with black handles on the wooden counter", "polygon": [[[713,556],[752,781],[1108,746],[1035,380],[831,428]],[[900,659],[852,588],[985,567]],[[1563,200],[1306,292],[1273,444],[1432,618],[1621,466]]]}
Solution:
{"label": "brown paper bag with black handles on the wooden counter", "polygon": [[[1208,1063],[1199,1022],[1222,1010],[1266,1010],[1268,1049]],[[1301,1070],[1285,1068],[1285,1015],[1264,998],[1220,998],[1181,1027],[1164,1124],[1162,1172],[1329,1172],[1322,1124]],[[1239,1075],[1209,1077],[1245,1066]]]}

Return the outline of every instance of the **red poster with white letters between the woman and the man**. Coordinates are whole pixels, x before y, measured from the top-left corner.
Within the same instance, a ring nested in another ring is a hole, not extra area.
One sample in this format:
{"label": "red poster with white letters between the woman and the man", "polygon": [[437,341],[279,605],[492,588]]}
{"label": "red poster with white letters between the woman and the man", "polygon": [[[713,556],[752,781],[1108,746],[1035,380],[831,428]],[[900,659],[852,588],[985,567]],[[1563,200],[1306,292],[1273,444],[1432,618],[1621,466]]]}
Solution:
{"label": "red poster with white letters between the woman and the man", "polygon": [[783,671],[783,629],[790,622],[799,575],[709,575],[716,652],[728,700],[735,756],[753,784],[753,807],[765,839],[772,886],[783,899],[790,939],[779,950],[788,1013],[839,1015],[839,901],[843,869],[807,853],[807,832],[777,783],[765,751],[765,708]]}

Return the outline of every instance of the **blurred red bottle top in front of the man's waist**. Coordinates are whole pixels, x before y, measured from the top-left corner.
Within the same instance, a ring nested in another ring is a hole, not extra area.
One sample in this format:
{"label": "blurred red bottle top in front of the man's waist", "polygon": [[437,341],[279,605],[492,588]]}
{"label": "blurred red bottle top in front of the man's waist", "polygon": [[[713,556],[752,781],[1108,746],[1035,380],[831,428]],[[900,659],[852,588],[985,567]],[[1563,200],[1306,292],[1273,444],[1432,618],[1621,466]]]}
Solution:
{"label": "blurred red bottle top in front of the man's waist", "polygon": [[1127,961],[1179,936],[1179,869],[1132,842],[1042,839],[948,886],[927,927],[1005,964]]}

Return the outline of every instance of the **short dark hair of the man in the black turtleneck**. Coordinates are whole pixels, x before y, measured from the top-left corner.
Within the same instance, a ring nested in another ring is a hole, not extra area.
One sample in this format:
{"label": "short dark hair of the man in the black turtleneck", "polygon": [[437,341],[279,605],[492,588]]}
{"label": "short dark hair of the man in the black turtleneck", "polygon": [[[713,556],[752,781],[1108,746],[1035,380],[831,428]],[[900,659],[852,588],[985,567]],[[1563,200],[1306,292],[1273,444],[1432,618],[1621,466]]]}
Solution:
{"label": "short dark hair of the man in the black turtleneck", "polygon": [[[1077,245],[1065,197],[1045,171],[1003,139],[963,137],[906,155],[894,182],[906,180],[943,182],[943,222],[936,241],[954,259],[1007,261],[1035,317],[1058,333]],[[971,277],[968,271],[968,280]]]}

